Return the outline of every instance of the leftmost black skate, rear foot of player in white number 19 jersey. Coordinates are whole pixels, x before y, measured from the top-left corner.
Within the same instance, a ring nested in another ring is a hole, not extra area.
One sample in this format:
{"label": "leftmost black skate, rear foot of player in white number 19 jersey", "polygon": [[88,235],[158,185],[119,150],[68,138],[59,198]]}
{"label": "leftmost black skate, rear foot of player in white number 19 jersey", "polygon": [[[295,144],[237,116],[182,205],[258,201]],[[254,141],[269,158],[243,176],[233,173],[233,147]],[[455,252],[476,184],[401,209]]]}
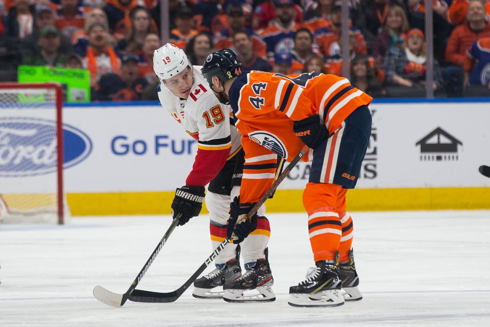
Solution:
{"label": "leftmost black skate, rear foot of player in white number 19 jersey", "polygon": [[212,289],[223,286],[227,281],[233,281],[240,276],[241,268],[238,258],[230,260],[223,269],[216,268],[209,274],[196,279],[192,296],[197,298],[222,298],[223,291],[212,291]]}

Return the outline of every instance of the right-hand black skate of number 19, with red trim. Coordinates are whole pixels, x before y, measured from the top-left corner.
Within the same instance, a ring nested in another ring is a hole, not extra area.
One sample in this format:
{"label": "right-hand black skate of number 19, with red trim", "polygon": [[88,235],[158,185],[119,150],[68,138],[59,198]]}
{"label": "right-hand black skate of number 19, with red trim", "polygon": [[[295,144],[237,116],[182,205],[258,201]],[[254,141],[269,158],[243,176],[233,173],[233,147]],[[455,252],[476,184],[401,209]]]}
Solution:
{"label": "right-hand black skate of number 19, with red trim", "polygon": [[[272,277],[269,262],[259,259],[255,266],[247,269],[240,277],[226,282],[223,286],[225,294],[223,299],[227,302],[269,302],[276,300],[272,290],[274,278]],[[258,294],[243,295],[246,291],[255,290]]]}

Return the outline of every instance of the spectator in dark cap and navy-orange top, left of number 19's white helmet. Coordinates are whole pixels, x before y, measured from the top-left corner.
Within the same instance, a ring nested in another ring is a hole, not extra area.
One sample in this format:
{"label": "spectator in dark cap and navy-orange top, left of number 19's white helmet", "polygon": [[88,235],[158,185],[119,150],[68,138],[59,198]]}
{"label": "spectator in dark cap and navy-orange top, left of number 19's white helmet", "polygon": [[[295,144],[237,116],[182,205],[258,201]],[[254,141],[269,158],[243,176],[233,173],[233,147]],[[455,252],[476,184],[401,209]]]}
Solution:
{"label": "spectator in dark cap and navy-orange top, left of number 19's white helmet", "polygon": [[129,53],[122,57],[120,74],[104,74],[96,91],[96,100],[100,101],[137,101],[148,82],[138,77],[138,57]]}

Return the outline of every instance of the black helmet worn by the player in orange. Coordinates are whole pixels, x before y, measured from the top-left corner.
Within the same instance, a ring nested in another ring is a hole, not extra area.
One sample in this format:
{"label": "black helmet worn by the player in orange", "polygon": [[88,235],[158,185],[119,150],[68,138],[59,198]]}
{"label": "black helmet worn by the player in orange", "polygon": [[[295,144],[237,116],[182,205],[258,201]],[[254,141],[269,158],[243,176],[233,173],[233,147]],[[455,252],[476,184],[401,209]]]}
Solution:
{"label": "black helmet worn by the player in orange", "polygon": [[201,73],[213,89],[213,76],[222,84],[241,75],[241,62],[230,49],[222,49],[211,53],[204,61]]}

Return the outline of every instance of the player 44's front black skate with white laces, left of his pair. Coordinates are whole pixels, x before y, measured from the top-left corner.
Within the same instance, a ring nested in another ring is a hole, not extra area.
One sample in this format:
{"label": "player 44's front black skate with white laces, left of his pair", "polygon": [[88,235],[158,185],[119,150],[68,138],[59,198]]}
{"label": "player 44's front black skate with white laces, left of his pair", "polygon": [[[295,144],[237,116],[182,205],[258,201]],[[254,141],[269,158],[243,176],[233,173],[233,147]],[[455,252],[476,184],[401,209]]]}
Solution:
{"label": "player 44's front black skate with white laces, left of his pair", "polygon": [[289,288],[288,303],[293,307],[336,307],[345,303],[335,263],[317,261],[306,281]]}

